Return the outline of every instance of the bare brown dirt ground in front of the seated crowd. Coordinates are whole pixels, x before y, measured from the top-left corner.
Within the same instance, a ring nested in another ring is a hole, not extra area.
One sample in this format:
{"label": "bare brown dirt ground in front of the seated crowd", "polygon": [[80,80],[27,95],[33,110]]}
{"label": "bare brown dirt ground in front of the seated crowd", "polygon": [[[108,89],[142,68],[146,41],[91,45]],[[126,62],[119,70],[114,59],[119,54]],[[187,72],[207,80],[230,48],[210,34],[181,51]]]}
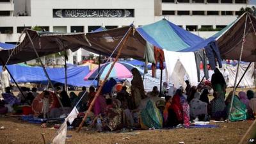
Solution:
{"label": "bare brown dirt ground in front of the seated crowd", "polygon": [[[170,130],[152,130],[152,131],[132,131],[134,135],[118,132],[92,132],[81,130],[68,131],[67,144],[76,143],[237,143],[246,132],[253,121],[229,122],[216,124],[218,128],[204,129],[170,129]],[[212,123],[214,124],[214,123]],[[29,124],[18,120],[18,118],[0,118],[0,144],[24,143],[24,144],[42,144],[42,133],[45,133],[47,143],[54,137],[56,129],[41,128],[40,124]],[[253,130],[255,131],[255,129]],[[246,138],[246,141],[248,138]],[[244,141],[244,143],[246,143]]]}

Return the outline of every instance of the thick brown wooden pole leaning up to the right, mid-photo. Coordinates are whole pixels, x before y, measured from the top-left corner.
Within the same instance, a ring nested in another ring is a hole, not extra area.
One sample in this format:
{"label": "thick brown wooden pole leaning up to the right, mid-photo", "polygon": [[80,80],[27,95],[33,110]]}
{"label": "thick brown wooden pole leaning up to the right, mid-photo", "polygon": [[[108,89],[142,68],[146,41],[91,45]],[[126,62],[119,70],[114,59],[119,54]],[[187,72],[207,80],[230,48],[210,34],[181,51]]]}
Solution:
{"label": "thick brown wooden pole leaning up to the right, mid-photo", "polygon": [[100,84],[100,87],[99,87],[99,89],[97,90],[97,92],[96,92],[96,94],[95,94],[95,97],[93,98],[93,100],[92,100],[92,102],[91,102],[91,104],[90,104],[88,110],[86,111],[86,113],[85,113],[85,115],[84,115],[84,117],[83,117],[83,120],[82,120],[81,124],[79,125],[79,127],[78,127],[78,129],[77,129],[77,132],[79,132],[80,129],[83,127],[84,121],[86,120],[88,113],[90,113],[90,111],[92,110],[92,106],[94,105],[95,100],[97,99],[97,97],[99,97],[99,94],[100,94],[100,92],[101,92],[101,90],[102,90],[102,87],[104,86],[106,80],[107,80],[108,77],[109,77],[109,74],[110,74],[111,70],[113,69],[113,67],[114,67],[114,65],[115,65],[115,63],[116,63],[116,61],[118,60],[118,58],[119,58],[119,56],[120,56],[120,54],[121,54],[121,51],[122,51],[124,45],[126,44],[128,38],[129,38],[129,35],[132,33],[132,28],[133,28],[133,27],[130,26],[129,30],[125,33],[125,35],[124,35],[124,37],[122,38],[122,40],[120,40],[120,42],[119,42],[118,45],[116,46],[116,47],[118,48],[119,45],[121,44],[120,49],[118,50],[118,53],[117,53],[117,55],[116,55],[115,61],[113,61],[113,63],[111,64],[111,67],[110,67],[109,70],[108,70],[108,74],[106,75],[106,77],[105,77],[104,80],[102,81],[102,84]]}

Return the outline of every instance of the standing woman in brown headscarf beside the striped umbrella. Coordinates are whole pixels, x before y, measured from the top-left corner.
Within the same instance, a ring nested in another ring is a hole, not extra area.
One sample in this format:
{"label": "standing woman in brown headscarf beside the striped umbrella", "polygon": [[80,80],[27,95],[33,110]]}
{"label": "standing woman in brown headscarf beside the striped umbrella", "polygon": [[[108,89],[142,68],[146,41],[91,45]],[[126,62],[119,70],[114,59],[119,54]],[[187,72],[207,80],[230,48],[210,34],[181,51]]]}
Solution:
{"label": "standing woman in brown headscarf beside the striped umbrella", "polygon": [[141,79],[140,72],[137,68],[132,68],[133,79],[131,81],[131,100],[129,100],[129,108],[136,109],[140,106],[141,99],[145,99],[145,90],[143,86],[143,81]]}

